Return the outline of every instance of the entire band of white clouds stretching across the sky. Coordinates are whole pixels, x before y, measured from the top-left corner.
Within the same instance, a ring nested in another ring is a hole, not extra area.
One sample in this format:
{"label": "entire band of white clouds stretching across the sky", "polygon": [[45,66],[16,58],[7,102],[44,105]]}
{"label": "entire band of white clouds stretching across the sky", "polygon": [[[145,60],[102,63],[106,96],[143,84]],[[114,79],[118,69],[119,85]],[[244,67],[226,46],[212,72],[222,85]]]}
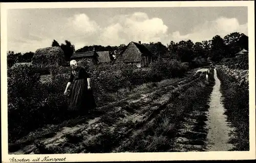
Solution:
{"label": "entire band of white clouds stretching across the sky", "polygon": [[[37,27],[37,23],[29,26],[29,31],[22,30],[27,27],[12,29],[8,38],[8,49],[14,52],[29,52],[39,48],[51,46],[53,39],[59,44],[66,39],[70,40],[78,50],[85,45],[120,45],[130,41],[157,42],[163,44],[171,40],[178,42],[191,39],[193,42],[209,40],[215,35],[224,37],[232,32],[247,35],[247,25],[240,25],[236,18],[220,17],[213,21],[205,21],[194,27],[190,33],[182,35],[179,31],[170,33],[163,20],[158,17],[150,18],[146,13],[117,15],[111,17],[110,25],[101,27],[86,14],[76,14],[69,18],[62,18],[58,22]],[[21,26],[21,25],[20,25]],[[28,25],[24,25],[28,26]]]}

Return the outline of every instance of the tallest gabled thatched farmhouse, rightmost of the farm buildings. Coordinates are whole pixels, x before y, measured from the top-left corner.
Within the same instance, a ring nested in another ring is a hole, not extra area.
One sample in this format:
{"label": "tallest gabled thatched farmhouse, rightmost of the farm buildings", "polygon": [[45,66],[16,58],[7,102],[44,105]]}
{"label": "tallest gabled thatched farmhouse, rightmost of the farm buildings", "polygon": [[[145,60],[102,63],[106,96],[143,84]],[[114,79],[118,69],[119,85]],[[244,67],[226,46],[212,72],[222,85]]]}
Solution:
{"label": "tallest gabled thatched farmhouse, rightmost of the farm buildings", "polygon": [[130,42],[126,48],[117,56],[115,63],[136,64],[137,67],[148,66],[153,59],[153,54],[144,46],[137,42]]}

